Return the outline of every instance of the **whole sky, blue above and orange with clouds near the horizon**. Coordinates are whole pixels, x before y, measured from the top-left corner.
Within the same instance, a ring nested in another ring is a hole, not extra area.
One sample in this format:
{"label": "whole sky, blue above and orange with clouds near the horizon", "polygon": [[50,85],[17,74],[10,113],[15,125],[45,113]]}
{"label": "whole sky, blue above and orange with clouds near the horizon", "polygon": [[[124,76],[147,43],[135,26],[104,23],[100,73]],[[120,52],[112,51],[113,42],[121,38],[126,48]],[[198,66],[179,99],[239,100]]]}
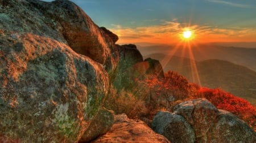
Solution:
{"label": "whole sky, blue above and orange with clouds near the horizon", "polygon": [[118,43],[256,42],[255,0],[72,0]]}

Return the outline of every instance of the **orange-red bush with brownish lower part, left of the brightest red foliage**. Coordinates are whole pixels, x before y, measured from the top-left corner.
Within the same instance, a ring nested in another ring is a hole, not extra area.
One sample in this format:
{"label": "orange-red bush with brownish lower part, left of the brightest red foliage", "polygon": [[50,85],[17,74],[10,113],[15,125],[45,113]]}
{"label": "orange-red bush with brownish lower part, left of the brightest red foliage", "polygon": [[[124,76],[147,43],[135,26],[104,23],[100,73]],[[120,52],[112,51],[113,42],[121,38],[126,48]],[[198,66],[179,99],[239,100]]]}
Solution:
{"label": "orange-red bush with brownish lower part, left of the brightest red foliage", "polygon": [[199,86],[191,84],[177,72],[169,71],[163,78],[147,77],[146,86],[150,90],[151,110],[171,111],[176,101],[191,98]]}

